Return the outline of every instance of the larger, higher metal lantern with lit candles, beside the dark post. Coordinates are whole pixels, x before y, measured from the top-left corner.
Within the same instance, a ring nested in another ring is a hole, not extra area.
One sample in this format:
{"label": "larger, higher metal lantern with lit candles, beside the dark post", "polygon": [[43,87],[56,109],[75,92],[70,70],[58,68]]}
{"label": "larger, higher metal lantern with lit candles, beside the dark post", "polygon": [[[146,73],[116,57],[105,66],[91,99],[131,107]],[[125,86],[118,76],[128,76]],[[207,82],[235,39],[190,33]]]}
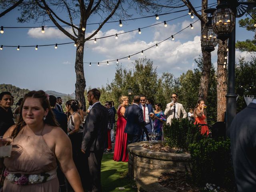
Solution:
{"label": "larger, higher metal lantern with lit candles, beside the dark post", "polygon": [[222,1],[216,8],[212,16],[212,29],[218,39],[225,41],[235,27],[235,14],[227,1]]}

